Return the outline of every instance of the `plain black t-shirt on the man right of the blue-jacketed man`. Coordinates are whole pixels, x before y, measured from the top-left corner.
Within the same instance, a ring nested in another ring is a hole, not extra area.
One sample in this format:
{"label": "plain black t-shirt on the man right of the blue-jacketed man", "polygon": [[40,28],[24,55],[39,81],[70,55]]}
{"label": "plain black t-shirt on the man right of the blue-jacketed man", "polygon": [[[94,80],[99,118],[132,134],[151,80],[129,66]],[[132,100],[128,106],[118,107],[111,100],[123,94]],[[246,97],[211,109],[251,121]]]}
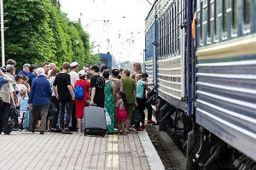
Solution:
{"label": "plain black t-shirt on the man right of the blue-jacketed man", "polygon": [[71,85],[70,75],[67,73],[60,73],[55,77],[55,82],[53,86],[57,87],[57,92],[59,94],[59,101],[61,103],[67,103],[72,100],[68,85]]}

